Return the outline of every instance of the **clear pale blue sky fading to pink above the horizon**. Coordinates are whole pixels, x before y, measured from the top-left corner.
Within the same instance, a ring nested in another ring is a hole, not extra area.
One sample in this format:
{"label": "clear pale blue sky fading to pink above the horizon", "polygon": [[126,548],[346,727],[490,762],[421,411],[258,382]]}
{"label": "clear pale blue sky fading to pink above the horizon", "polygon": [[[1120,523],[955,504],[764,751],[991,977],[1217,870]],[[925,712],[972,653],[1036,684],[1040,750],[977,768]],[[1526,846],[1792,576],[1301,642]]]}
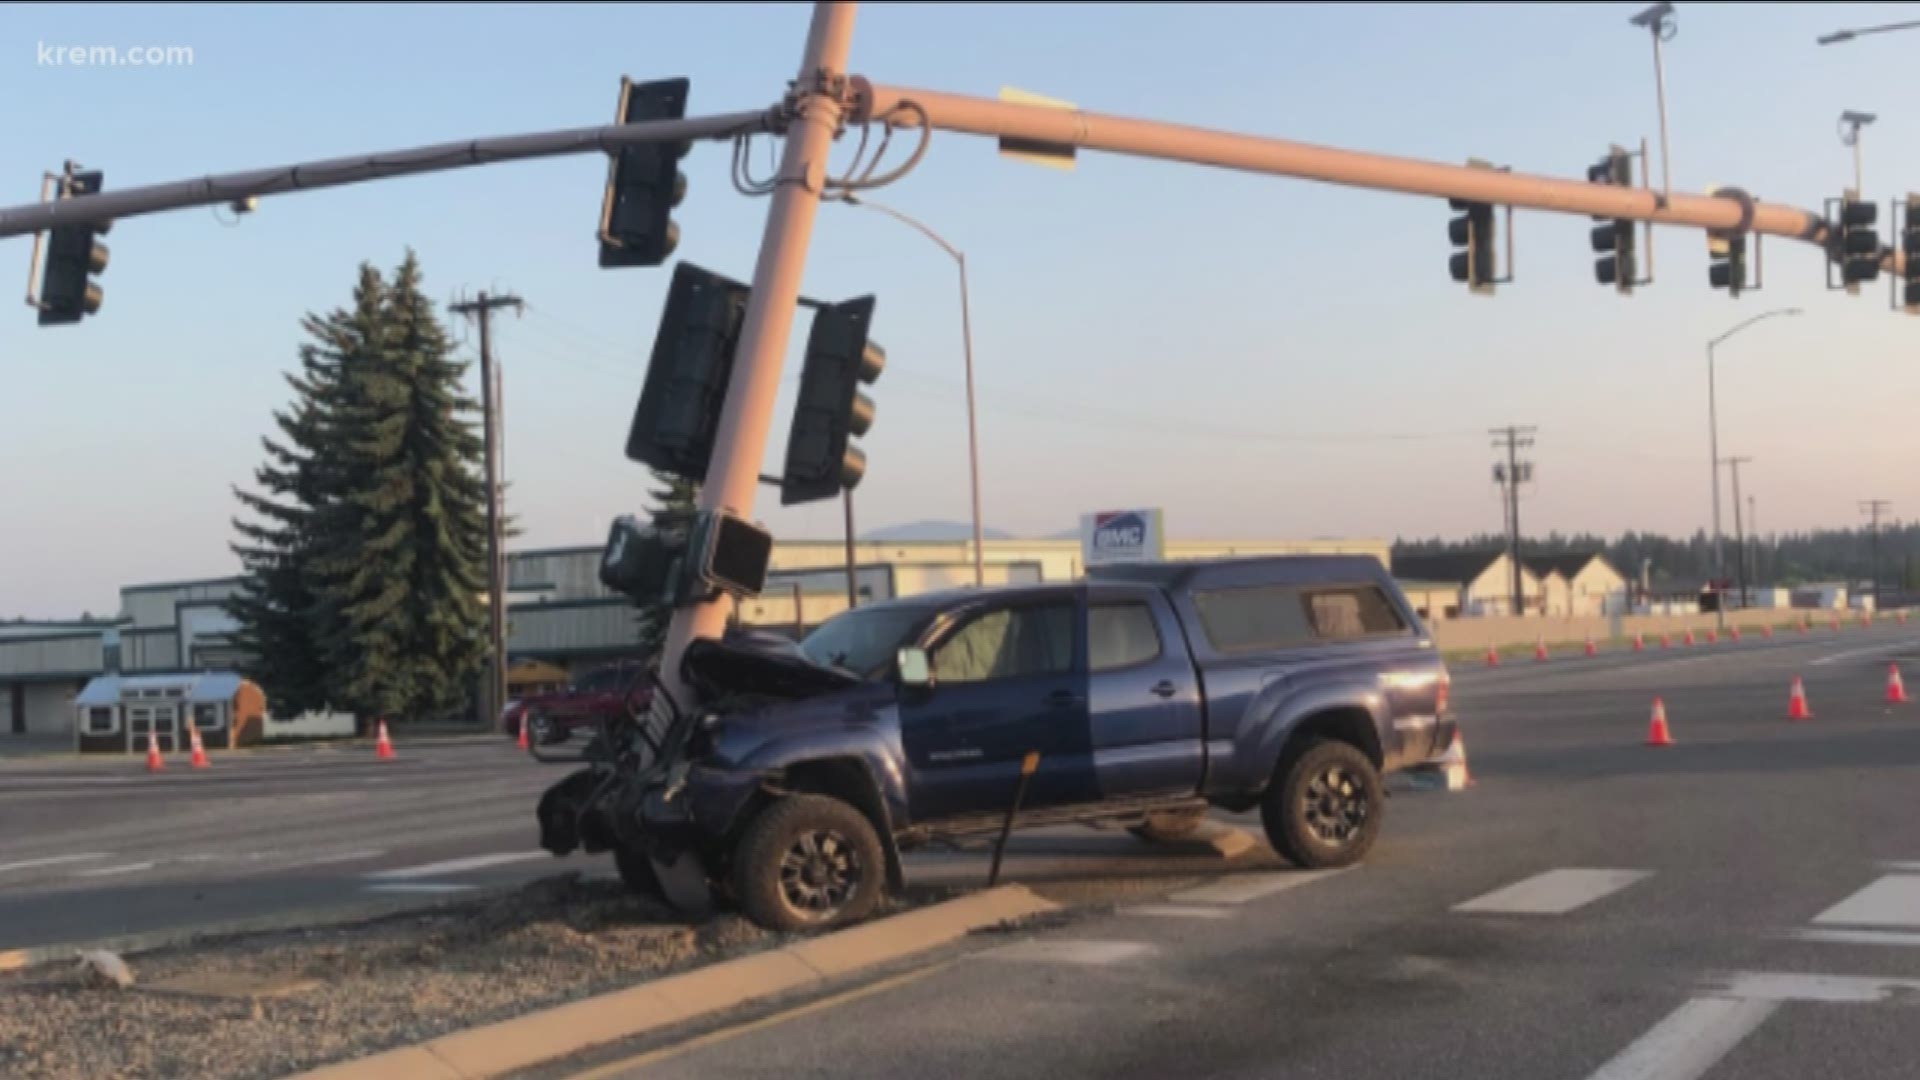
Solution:
{"label": "clear pale blue sky fading to pink above the horizon", "polygon": [[[852,69],[993,96],[1442,161],[1584,177],[1655,136],[1651,48],[1628,6],[864,4]],[[1880,111],[1866,188],[1920,188],[1920,33],[1816,48],[1914,6],[1682,4],[1667,46],[1674,186],[1738,183],[1818,208],[1851,183],[1843,108]],[[795,69],[804,6],[0,8],[0,181],[27,202],[73,158],[123,188],[336,154],[609,121],[620,75],[693,79],[693,111],[760,108]],[[192,65],[50,67],[40,44],[190,46]],[[839,148],[843,160],[851,146]],[[687,158],[680,258],[749,277],[764,200],[728,152]],[[499,325],[511,511],[526,546],[597,544],[641,502],[622,455],[666,269],[601,271],[605,161],[568,158],[119,223],[106,307],[81,327],[0,317],[0,615],[115,605],[127,582],[236,569],[232,484],[286,400],[303,311],[355,265],[419,250],[430,290],[522,294]],[[987,521],[1021,534],[1160,505],[1177,536],[1498,530],[1486,429],[1540,427],[1528,530],[1705,525],[1703,342],[1722,350],[1722,454],[1763,528],[1920,507],[1920,323],[1824,290],[1820,259],[1766,248],[1766,288],[1707,288],[1693,231],[1661,231],[1659,282],[1594,284],[1588,221],[1523,213],[1519,281],[1446,273],[1438,200],[1083,156],[1071,173],[939,135],[877,198],[966,248],[973,271]],[[8,273],[27,244],[6,242]],[[21,281],[21,279],[15,279]],[[952,263],[908,229],[826,208],[806,290],[879,296],[860,525],[962,521],[966,427]],[[791,373],[789,373],[791,382]],[[781,405],[785,415],[785,404]],[[776,430],[772,455],[783,446]],[[835,503],[762,513],[835,536]]]}

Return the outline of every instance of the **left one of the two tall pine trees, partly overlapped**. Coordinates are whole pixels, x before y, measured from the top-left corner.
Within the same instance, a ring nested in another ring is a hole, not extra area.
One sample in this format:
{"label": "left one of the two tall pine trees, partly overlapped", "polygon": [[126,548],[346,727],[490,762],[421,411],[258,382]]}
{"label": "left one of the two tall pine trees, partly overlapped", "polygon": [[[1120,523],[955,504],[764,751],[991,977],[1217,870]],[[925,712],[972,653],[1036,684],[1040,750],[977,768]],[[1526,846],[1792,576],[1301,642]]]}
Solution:
{"label": "left one of the two tall pine trees, partly overlapped", "polygon": [[334,703],[321,642],[336,619],[317,594],[313,561],[328,546],[323,523],[340,494],[332,452],[349,438],[348,371],[378,350],[384,294],[380,273],[363,265],[351,307],[301,319],[309,340],[300,346],[300,371],[286,375],[294,404],[275,413],[284,442],[261,440],[259,494],[234,488],[252,515],[234,519],[240,542],[232,550],[246,577],[228,601],[240,625],[234,640],[250,657],[248,676],[280,715]]}

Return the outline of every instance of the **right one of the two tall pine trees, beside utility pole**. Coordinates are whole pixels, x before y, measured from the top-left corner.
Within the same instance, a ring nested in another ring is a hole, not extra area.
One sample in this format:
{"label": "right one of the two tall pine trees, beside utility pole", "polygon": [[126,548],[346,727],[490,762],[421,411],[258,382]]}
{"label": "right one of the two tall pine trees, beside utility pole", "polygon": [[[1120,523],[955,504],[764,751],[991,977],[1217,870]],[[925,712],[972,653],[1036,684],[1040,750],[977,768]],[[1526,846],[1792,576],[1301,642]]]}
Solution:
{"label": "right one of the two tall pine trees, beside utility pole", "polygon": [[382,348],[351,365],[334,448],[340,498],[315,561],[321,638],[336,701],[390,719],[444,717],[472,701],[486,657],[486,482],[467,363],[420,292],[413,252],[382,304]]}

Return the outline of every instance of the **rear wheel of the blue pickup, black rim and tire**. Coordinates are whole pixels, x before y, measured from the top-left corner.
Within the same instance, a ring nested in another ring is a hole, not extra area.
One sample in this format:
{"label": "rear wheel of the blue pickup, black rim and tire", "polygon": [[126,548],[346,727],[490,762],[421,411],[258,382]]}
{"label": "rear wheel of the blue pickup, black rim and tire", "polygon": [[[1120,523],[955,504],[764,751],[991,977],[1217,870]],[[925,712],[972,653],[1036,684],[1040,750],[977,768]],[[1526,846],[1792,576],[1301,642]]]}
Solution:
{"label": "rear wheel of the blue pickup, black rim and tire", "polygon": [[1321,738],[1284,765],[1260,801],[1267,842],[1302,869],[1361,861],[1380,834],[1380,773],[1357,748]]}

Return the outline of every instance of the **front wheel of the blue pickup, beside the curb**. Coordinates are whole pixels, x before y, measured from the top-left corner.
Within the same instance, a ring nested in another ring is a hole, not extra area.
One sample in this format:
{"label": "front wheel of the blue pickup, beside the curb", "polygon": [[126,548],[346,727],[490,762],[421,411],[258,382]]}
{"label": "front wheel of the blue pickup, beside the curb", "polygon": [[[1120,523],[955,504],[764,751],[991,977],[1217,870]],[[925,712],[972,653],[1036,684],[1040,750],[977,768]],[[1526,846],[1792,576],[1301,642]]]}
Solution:
{"label": "front wheel of the blue pickup, beside the curb", "polygon": [[866,919],[887,855],[864,813],[828,796],[785,796],[747,822],[733,896],[768,930],[826,930]]}

